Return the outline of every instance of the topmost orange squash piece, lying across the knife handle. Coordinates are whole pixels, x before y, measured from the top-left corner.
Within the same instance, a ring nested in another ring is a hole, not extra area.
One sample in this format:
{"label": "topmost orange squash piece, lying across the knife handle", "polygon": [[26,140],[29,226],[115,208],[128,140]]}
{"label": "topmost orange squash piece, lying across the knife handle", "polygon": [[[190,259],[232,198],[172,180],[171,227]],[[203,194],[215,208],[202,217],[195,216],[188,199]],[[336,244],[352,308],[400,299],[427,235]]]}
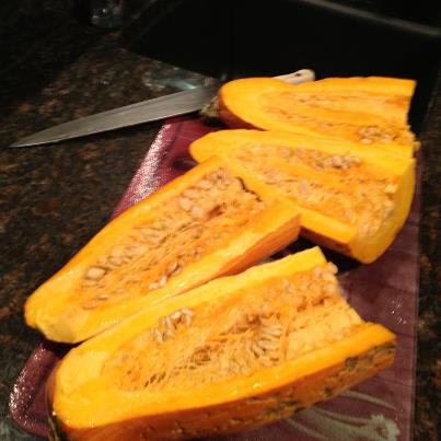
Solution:
{"label": "topmost orange squash piece, lying across the knife handle", "polygon": [[407,114],[415,84],[382,77],[295,85],[271,78],[241,79],[220,89],[219,115],[231,128],[294,131],[411,156],[417,142]]}

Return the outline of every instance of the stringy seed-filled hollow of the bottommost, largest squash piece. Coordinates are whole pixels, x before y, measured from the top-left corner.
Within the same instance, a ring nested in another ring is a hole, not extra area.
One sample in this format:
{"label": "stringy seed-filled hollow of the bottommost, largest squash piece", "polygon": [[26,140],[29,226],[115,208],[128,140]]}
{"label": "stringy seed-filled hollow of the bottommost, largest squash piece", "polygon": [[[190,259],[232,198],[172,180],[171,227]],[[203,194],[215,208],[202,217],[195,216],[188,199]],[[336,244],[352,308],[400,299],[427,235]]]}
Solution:
{"label": "stringy seed-filled hollow of the bottommost, largest squash piece", "polygon": [[173,311],[124,345],[104,372],[124,390],[193,387],[252,375],[345,338],[362,321],[341,298],[336,270],[324,264],[224,303]]}

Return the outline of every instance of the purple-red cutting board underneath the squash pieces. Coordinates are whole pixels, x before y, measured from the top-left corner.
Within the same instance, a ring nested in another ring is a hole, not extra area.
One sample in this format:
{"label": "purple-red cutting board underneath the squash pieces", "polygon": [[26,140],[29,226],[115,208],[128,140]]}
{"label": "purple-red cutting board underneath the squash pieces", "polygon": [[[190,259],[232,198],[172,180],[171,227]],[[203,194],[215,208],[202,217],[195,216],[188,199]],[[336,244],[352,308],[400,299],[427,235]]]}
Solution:
{"label": "purple-red cutting board underneath the squash pieces", "polygon": [[[169,120],[152,143],[113,217],[181,175],[195,163],[189,143],[212,131],[195,117]],[[330,402],[320,404],[259,430],[230,436],[230,440],[410,440],[416,367],[416,318],[419,280],[420,167],[410,216],[390,249],[375,263],[359,265],[334,253],[349,303],[364,320],[379,322],[397,335],[392,368]],[[311,246],[299,241],[287,252]],[[287,253],[285,252],[285,253]],[[10,398],[12,419],[22,429],[48,436],[44,390],[54,365],[68,345],[47,340],[34,350]]]}

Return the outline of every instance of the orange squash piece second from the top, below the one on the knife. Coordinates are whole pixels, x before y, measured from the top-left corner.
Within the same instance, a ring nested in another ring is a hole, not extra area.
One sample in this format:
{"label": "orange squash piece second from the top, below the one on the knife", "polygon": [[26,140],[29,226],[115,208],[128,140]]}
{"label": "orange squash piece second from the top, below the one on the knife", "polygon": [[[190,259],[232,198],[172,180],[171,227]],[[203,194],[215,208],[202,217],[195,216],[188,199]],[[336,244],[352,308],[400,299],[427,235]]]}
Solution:
{"label": "orange squash piece second from the top, below the one on the knife", "polygon": [[221,130],[190,146],[252,172],[301,212],[301,234],[362,263],[375,260],[403,227],[414,196],[415,161],[357,142],[306,135]]}

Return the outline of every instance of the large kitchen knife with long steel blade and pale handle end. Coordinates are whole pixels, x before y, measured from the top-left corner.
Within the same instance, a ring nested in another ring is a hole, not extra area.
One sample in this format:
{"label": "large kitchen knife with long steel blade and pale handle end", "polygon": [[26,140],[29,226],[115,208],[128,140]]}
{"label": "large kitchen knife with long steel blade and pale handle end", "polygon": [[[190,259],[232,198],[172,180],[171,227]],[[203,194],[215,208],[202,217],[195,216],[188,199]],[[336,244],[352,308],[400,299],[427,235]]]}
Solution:
{"label": "large kitchen knife with long steel blade and pale handle end", "polygon": [[[276,77],[292,84],[314,80],[314,72],[309,69]],[[74,119],[58,126],[21,138],[9,147],[30,147],[59,142],[65,139],[135,126],[171,116],[184,115],[201,109],[218,93],[219,84],[190,89],[153,100],[141,101],[128,106],[114,108],[100,114]]]}

